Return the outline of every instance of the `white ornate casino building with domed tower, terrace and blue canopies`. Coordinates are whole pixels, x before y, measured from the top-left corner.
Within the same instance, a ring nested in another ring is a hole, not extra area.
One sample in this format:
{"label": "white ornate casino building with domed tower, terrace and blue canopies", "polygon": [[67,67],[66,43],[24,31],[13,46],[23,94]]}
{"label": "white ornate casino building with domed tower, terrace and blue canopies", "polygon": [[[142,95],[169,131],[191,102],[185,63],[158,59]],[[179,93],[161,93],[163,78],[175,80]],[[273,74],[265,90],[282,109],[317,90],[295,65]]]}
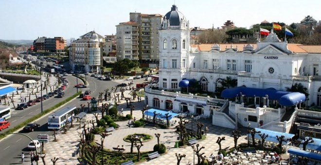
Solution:
{"label": "white ornate casino building with domed tower, terrace and blue canopies", "polygon": [[[223,127],[272,123],[264,128],[287,132],[290,119],[281,121],[286,107],[300,108],[302,102],[321,106],[321,46],[288,44],[273,31],[254,45],[190,45],[189,21],[175,5],[164,16],[159,33],[159,84],[145,88],[149,107],[211,117],[214,125]],[[238,87],[223,91],[225,99],[179,92],[191,81],[198,81],[203,91],[214,92],[227,77],[237,79]],[[295,83],[307,88],[307,98],[285,92]],[[279,106],[274,109],[271,104]],[[275,127],[275,123],[283,125]]]}

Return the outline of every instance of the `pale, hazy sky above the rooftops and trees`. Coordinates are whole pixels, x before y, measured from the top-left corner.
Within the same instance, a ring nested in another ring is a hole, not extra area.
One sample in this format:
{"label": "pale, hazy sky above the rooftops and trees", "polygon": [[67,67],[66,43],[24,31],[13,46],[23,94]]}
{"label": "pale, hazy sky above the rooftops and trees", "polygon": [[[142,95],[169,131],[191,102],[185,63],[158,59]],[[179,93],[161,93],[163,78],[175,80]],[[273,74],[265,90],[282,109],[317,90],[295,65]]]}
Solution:
{"label": "pale, hazy sky above the rooftops and trees", "polygon": [[164,16],[174,3],[190,27],[217,28],[227,20],[245,28],[263,20],[288,25],[305,16],[321,20],[321,0],[0,0],[0,39],[77,39],[92,30],[115,34],[130,12]]}

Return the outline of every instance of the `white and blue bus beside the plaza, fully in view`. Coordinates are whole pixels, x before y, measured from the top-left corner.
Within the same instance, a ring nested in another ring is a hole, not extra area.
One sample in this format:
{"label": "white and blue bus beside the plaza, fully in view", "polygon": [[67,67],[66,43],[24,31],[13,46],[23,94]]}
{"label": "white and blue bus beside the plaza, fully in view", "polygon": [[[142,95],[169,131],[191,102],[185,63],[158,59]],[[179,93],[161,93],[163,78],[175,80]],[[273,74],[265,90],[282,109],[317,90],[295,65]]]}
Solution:
{"label": "white and blue bus beside the plaza, fully in view", "polygon": [[48,129],[60,130],[66,125],[66,123],[71,122],[74,117],[74,110],[76,107],[65,107],[48,116]]}

